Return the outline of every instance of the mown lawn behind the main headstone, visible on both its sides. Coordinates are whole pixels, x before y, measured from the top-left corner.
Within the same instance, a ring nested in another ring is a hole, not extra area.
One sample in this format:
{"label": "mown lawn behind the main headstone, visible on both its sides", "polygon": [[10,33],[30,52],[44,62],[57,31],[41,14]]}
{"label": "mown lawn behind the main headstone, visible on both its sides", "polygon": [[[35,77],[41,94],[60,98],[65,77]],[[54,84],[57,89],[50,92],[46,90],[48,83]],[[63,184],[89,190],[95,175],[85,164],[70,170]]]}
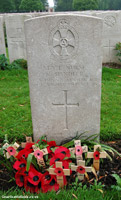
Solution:
{"label": "mown lawn behind the main headstone, visible on both its sides", "polygon": [[[0,71],[0,139],[32,135],[28,72]],[[101,140],[121,138],[121,70],[103,68]]]}

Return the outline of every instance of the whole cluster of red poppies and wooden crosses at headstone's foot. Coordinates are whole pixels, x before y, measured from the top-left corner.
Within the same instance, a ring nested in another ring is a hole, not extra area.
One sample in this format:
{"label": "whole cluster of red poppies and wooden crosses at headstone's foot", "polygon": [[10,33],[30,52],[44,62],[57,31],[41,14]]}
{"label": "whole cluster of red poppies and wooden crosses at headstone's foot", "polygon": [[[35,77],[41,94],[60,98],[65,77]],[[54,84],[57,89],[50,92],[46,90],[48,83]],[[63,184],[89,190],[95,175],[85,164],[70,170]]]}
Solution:
{"label": "whole cluster of red poppies and wooden crosses at headstone's foot", "polygon": [[[88,146],[81,145],[81,140],[58,146],[44,136],[36,143],[31,137],[26,137],[26,142],[21,145],[5,143],[1,150],[7,159],[14,161],[16,184],[32,193],[58,191],[75,177],[83,181],[89,173],[99,171],[100,159],[107,156],[100,145],[95,145],[94,152],[89,152]],[[93,159],[92,166],[86,166],[88,158]]]}

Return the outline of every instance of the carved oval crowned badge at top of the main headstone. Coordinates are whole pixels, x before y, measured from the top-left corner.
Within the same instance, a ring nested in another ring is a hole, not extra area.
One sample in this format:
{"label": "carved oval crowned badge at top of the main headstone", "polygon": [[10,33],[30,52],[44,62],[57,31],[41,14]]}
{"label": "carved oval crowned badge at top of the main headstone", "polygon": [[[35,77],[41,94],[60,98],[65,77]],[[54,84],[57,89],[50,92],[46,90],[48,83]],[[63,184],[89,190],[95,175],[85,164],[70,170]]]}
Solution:
{"label": "carved oval crowned badge at top of the main headstone", "polygon": [[51,53],[59,59],[69,59],[78,49],[78,34],[66,19],[58,22],[51,31],[49,46]]}

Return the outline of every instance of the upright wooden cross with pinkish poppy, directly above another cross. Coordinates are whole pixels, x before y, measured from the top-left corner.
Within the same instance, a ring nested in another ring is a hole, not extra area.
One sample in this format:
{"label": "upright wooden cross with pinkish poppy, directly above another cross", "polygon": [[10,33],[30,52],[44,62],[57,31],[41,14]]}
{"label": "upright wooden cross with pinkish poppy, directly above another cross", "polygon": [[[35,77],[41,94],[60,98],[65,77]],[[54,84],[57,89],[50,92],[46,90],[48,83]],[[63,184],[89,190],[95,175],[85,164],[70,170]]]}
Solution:
{"label": "upright wooden cross with pinkish poppy, directly above another cross", "polygon": [[82,154],[88,152],[88,147],[81,146],[81,140],[75,140],[74,144],[75,144],[75,147],[69,148],[69,150],[73,152],[74,154],[76,154],[76,160],[78,164],[80,160],[83,160]]}

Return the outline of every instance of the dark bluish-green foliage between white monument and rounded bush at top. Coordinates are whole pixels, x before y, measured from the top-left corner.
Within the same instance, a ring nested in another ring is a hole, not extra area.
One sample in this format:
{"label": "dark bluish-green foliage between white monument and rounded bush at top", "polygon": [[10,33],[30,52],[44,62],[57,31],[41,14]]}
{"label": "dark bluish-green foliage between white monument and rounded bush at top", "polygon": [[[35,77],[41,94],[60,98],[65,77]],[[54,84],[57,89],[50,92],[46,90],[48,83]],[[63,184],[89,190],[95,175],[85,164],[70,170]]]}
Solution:
{"label": "dark bluish-green foliage between white monument and rounded bush at top", "polygon": [[57,0],[56,1],[56,11],[71,11],[73,10],[72,7],[73,0]]}

